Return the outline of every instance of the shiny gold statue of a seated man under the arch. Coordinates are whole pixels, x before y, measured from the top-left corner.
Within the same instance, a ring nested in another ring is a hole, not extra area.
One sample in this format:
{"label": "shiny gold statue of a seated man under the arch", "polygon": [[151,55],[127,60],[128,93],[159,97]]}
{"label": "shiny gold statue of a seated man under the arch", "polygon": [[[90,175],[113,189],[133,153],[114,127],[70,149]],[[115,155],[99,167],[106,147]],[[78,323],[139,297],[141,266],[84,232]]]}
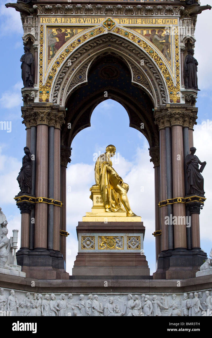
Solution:
{"label": "shiny gold statue of a seated man under the arch", "polygon": [[114,156],[115,151],[115,146],[110,144],[106,147],[106,152],[98,157],[95,164],[95,181],[100,186],[106,211],[126,211],[127,216],[136,216],[130,208],[127,197],[129,186],[112,167],[110,158]]}

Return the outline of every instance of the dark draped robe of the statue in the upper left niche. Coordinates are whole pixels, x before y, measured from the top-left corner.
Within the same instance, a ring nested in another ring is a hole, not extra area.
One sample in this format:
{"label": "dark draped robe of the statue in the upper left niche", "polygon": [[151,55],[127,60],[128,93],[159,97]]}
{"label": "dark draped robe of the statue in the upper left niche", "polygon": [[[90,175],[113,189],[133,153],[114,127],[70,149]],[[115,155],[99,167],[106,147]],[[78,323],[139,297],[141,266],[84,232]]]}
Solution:
{"label": "dark draped robe of the statue in the upper left niche", "polygon": [[24,83],[24,87],[33,87],[34,80],[34,58],[32,53],[25,53],[22,55],[20,61],[21,64],[21,77]]}

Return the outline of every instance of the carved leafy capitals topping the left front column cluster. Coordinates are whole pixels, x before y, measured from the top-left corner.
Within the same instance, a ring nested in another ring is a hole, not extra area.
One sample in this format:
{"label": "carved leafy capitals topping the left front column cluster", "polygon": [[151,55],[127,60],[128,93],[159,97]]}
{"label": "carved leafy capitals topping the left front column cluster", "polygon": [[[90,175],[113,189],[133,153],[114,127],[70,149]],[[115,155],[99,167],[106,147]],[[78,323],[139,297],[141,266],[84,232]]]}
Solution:
{"label": "carved leafy capitals topping the left front column cluster", "polygon": [[30,106],[21,107],[23,121],[26,128],[45,124],[60,129],[65,123],[65,107],[60,107],[56,104],[44,105],[33,104]]}

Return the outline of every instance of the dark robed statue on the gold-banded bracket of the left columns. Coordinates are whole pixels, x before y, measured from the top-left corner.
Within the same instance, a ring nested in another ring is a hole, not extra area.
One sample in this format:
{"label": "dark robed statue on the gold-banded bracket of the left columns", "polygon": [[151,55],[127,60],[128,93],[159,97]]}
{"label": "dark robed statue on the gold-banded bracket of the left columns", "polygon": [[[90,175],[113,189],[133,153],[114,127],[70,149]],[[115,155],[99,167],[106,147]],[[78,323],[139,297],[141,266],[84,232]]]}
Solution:
{"label": "dark robed statue on the gold-banded bracket of the left columns", "polygon": [[32,154],[28,147],[24,147],[25,155],[22,159],[22,167],[17,177],[19,183],[20,192],[18,195],[23,195],[24,193],[31,193],[31,180],[32,180]]}

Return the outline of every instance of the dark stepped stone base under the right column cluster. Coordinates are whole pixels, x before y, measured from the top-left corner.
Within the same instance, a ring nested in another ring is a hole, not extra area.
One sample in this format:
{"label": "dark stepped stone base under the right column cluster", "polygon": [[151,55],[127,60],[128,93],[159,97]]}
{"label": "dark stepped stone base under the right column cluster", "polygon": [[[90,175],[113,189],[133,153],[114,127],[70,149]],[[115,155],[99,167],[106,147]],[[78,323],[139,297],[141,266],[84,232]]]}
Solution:
{"label": "dark stepped stone base under the right column cluster", "polygon": [[206,252],[201,249],[187,250],[177,248],[163,251],[157,260],[157,271],[153,279],[186,279],[196,276],[203,261],[207,259]]}

